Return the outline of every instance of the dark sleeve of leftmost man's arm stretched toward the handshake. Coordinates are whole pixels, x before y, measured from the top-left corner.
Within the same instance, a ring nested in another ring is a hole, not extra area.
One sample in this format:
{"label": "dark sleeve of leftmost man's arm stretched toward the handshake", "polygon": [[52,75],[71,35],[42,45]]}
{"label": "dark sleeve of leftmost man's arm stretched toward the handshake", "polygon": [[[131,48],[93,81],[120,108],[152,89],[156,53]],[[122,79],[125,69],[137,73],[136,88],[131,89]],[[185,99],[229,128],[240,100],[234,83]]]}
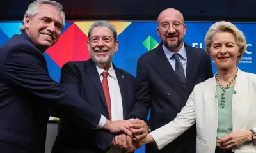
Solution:
{"label": "dark sleeve of leftmost man's arm stretched toward the handshake", "polygon": [[84,103],[75,92],[54,82],[35,55],[24,50],[12,50],[1,67],[1,74],[3,80],[13,88],[45,99],[45,103],[51,101],[49,105],[60,106],[61,112],[67,111],[63,114],[68,114],[67,117],[84,128],[97,128],[101,114]]}

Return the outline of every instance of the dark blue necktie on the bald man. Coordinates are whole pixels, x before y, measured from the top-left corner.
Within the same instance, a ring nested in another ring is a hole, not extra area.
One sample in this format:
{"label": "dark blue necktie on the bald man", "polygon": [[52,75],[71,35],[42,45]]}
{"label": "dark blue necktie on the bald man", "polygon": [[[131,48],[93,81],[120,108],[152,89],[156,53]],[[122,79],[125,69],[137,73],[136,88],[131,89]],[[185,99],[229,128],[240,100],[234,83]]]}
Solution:
{"label": "dark blue necktie on the bald man", "polygon": [[184,69],[183,69],[182,63],[180,62],[180,59],[179,59],[180,54],[175,53],[172,56],[173,56],[173,58],[176,61],[176,63],[175,63],[175,73],[179,77],[180,82],[182,83],[183,87],[185,87],[186,78],[185,78],[185,73],[184,73]]}

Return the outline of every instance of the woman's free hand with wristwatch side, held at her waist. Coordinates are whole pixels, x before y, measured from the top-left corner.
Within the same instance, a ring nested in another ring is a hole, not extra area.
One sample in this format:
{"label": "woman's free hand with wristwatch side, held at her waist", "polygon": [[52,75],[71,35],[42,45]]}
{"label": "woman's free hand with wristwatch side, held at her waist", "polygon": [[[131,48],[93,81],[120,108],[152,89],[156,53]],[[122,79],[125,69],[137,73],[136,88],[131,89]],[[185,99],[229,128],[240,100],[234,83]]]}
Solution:
{"label": "woman's free hand with wristwatch side, held at her waist", "polygon": [[228,135],[223,136],[217,143],[220,144],[221,149],[237,149],[241,147],[246,142],[250,142],[252,140],[252,133],[250,130],[248,131],[238,131],[236,133],[230,133]]}

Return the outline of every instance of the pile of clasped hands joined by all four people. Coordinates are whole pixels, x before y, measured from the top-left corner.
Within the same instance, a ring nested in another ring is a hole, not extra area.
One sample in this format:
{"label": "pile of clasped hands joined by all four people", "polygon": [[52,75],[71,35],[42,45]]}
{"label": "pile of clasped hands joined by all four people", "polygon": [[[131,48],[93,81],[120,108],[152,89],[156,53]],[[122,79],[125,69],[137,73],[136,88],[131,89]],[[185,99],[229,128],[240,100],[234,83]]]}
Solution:
{"label": "pile of clasped hands joined by all four people", "polygon": [[148,135],[148,125],[144,120],[107,120],[103,129],[118,133],[111,145],[120,147],[125,152],[134,152],[142,145],[154,142],[152,136]]}

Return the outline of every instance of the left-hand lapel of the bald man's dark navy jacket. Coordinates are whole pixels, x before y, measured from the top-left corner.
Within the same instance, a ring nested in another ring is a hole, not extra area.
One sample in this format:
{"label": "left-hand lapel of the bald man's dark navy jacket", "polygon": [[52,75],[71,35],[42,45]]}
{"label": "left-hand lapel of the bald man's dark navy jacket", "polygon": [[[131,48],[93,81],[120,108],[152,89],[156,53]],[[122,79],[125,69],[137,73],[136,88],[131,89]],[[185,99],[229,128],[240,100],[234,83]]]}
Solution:
{"label": "left-hand lapel of the bald man's dark navy jacket", "polygon": [[164,54],[163,43],[158,45],[156,48],[157,54],[155,57],[152,57],[149,59],[149,63],[151,66],[156,70],[156,72],[159,74],[163,80],[170,85],[170,87],[173,88],[173,90],[177,91],[180,96],[184,95],[184,87],[182,86],[179,78],[177,77],[175,71],[173,70],[170,62],[166,58],[166,55]]}

